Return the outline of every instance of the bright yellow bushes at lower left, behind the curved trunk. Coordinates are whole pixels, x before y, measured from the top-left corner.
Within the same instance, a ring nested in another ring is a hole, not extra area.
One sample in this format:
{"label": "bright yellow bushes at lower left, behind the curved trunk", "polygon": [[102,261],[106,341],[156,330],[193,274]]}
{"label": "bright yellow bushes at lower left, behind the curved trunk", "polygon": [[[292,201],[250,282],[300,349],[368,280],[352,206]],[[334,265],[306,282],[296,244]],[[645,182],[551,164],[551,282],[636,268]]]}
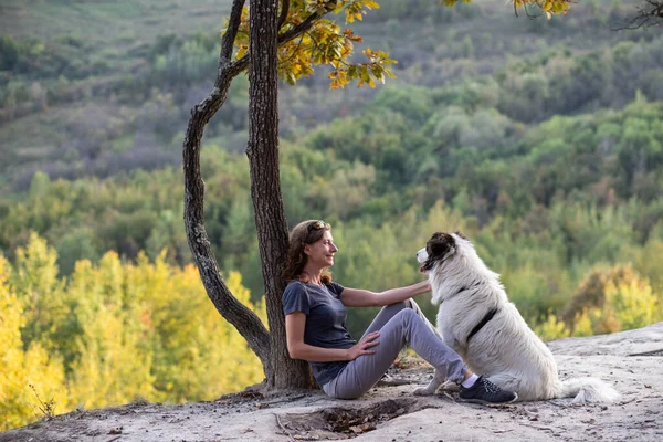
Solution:
{"label": "bright yellow bushes at lower left, behind the curved trunk", "polygon": [[[0,430],[44,417],[40,400],[55,413],[138,398],[211,400],[262,380],[257,358],[211,306],[192,265],[144,254],[123,263],[108,252],[61,278],[56,259],[36,234],[15,265],[0,255]],[[227,283],[264,318],[239,273]]]}

